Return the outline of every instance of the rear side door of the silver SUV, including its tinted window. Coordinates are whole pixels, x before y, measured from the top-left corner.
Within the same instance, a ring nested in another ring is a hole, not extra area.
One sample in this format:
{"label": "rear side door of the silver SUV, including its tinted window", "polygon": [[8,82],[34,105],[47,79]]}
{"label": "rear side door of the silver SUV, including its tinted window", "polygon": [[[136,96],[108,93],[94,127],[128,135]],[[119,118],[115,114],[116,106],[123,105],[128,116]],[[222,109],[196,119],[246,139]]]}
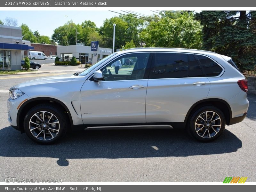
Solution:
{"label": "rear side door of the silver SUV, including its tinted window", "polygon": [[206,99],[210,82],[194,54],[156,52],[146,96],[146,121],[184,122],[197,101]]}

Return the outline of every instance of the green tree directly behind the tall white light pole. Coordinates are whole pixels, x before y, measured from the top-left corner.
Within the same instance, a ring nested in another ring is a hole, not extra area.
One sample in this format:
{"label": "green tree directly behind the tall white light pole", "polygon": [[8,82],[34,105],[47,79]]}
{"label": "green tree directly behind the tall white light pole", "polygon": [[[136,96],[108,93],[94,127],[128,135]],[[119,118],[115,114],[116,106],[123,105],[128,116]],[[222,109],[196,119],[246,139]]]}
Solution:
{"label": "green tree directly behind the tall white light pole", "polygon": [[104,46],[107,48],[113,47],[113,24],[116,24],[115,34],[115,48],[121,48],[127,41],[127,22],[119,17],[112,17],[103,21],[103,26],[100,27],[100,35],[105,42]]}

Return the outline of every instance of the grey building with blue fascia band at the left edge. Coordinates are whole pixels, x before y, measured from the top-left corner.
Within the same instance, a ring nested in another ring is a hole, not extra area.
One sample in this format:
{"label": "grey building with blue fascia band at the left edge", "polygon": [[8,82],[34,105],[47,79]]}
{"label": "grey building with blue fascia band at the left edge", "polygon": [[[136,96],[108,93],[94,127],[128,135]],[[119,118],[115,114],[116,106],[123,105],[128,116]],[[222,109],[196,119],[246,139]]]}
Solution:
{"label": "grey building with blue fascia band at the left edge", "polygon": [[21,69],[24,51],[34,47],[24,44],[20,27],[0,25],[0,70]]}

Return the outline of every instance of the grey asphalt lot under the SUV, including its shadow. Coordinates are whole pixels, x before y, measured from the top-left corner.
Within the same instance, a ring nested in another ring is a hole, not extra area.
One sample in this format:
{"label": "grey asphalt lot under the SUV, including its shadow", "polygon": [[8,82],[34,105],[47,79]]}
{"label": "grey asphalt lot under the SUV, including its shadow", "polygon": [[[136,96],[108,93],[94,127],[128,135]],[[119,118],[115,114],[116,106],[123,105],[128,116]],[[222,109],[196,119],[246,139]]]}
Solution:
{"label": "grey asphalt lot under the SUV, including its shadow", "polygon": [[9,126],[8,97],[8,92],[0,92],[0,181],[16,177],[222,182],[229,176],[256,181],[255,95],[248,95],[250,107],[244,121],[226,126],[222,136],[210,143],[197,142],[182,129],[108,130],[72,132],[48,146]]}

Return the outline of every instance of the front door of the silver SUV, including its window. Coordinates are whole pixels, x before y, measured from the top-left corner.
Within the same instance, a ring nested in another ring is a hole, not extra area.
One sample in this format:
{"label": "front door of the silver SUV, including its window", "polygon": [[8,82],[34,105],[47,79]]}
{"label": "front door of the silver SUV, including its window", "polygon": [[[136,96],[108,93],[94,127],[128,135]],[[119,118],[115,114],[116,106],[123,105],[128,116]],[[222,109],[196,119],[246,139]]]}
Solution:
{"label": "front door of the silver SUV, including its window", "polygon": [[91,77],[84,83],[80,98],[84,124],[146,123],[149,58],[149,52],[121,55],[100,69],[104,81]]}

